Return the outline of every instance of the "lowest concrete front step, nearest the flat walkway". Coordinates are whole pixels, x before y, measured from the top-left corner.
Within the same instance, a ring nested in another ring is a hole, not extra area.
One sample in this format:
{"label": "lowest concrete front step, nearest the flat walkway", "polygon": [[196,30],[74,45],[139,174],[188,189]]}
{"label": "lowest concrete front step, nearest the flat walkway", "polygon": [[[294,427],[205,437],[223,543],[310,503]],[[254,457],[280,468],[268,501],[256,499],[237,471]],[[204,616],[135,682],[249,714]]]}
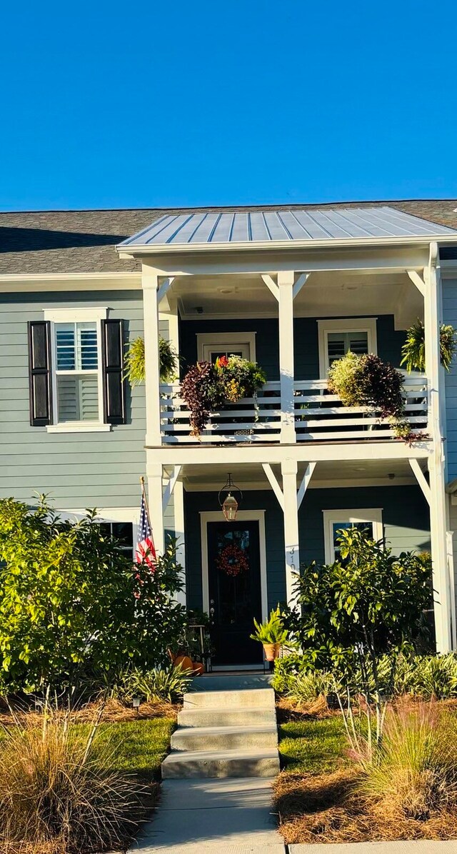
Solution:
{"label": "lowest concrete front step, nearest the flat walkway", "polygon": [[172,752],[161,763],[164,780],[195,777],[274,777],[278,748]]}

